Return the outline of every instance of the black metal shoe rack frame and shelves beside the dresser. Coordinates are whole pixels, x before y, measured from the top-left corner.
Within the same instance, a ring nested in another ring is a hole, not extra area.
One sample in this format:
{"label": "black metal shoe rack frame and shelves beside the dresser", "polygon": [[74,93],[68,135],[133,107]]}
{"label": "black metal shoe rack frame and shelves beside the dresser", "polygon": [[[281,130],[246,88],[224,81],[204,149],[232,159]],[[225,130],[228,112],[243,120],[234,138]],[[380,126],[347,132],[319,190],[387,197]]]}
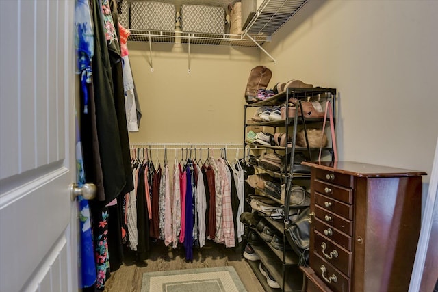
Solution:
{"label": "black metal shoe rack frame and shelves beside the dresser", "polygon": [[[293,118],[289,118],[289,99],[295,98],[298,103],[296,103],[295,108],[295,116]],[[251,152],[254,152],[255,150],[264,150],[264,151],[272,151],[272,152],[282,152],[283,155],[283,163],[284,165],[287,165],[289,163],[289,167],[282,168],[279,172],[272,172],[270,170],[263,169],[259,167],[259,165],[253,165],[255,168],[258,169],[256,173],[260,172],[267,172],[271,176],[280,178],[281,185],[285,185],[285,203],[283,204],[284,213],[289,214],[289,194],[290,194],[290,187],[293,184],[297,185],[304,185],[309,189],[309,178],[310,174],[302,174],[302,173],[294,173],[293,167],[294,167],[294,156],[296,152],[306,152],[307,158],[310,161],[318,161],[318,154],[320,151],[320,148],[310,148],[309,147],[309,141],[307,137],[307,126],[312,125],[312,127],[322,127],[323,123],[326,123],[326,135],[327,137],[331,137],[330,133],[330,125],[329,125],[329,117],[324,120],[324,118],[305,118],[305,115],[303,113],[301,103],[302,101],[307,101],[308,98],[311,98],[311,100],[320,100],[320,101],[327,101],[329,98],[331,99],[331,106],[333,109],[333,120],[336,120],[335,114],[336,114],[336,89],[334,88],[286,88],[285,92],[280,92],[279,94],[276,94],[264,101],[259,101],[257,103],[251,103],[248,105],[244,105],[244,157],[245,159],[248,159],[250,157]],[[286,117],[285,120],[279,120],[279,121],[273,121],[273,122],[251,122],[248,120],[250,116],[248,115],[248,109],[254,108],[254,107],[272,107],[272,106],[281,106],[285,105],[286,107]],[[285,132],[286,137],[292,137],[292,146],[263,146],[263,145],[257,145],[257,144],[251,144],[246,141],[246,134],[247,134],[247,128],[250,126],[261,126],[261,127],[272,127],[274,133],[278,133],[279,131]],[[284,129],[283,129],[284,128]],[[305,130],[305,140],[307,147],[302,148],[296,146],[296,135],[298,133],[298,130],[304,129]],[[326,156],[329,157],[327,159],[331,159],[331,161],[334,160],[334,151],[333,151],[333,144],[331,143],[331,140],[329,140],[329,144],[327,147],[322,148],[322,153],[324,153]],[[290,154],[289,161],[287,161],[287,157]],[[329,155],[327,155],[329,154]],[[249,162],[249,161],[246,161]],[[248,187],[247,184],[245,184],[246,187]],[[279,203],[279,201],[276,198],[273,198],[272,196],[269,196],[268,194],[264,193],[263,191],[257,190],[255,191],[257,194],[262,196],[268,196],[270,199],[275,200]],[[247,191],[245,191],[245,194],[248,194]],[[248,200],[247,200],[248,201]],[[301,207],[302,208],[302,207]],[[247,209],[250,209],[248,207]],[[270,274],[272,275],[272,278],[276,280],[276,282],[279,283],[281,287],[281,291],[302,291],[302,284],[303,284],[303,275],[302,271],[299,269],[299,265],[302,265],[303,263],[300,263],[300,259],[298,258],[298,255],[293,252],[292,250],[286,249],[287,245],[289,244],[286,239],[286,232],[289,232],[287,230],[289,224],[289,218],[288,216],[285,216],[284,220],[274,220],[272,218],[266,217],[266,220],[268,220],[268,223],[270,224],[270,227],[272,227],[277,232],[281,233],[283,235],[283,251],[282,250],[276,250],[272,247],[272,245],[263,242],[263,239],[261,239],[260,244],[252,244],[253,249],[260,257],[261,263],[268,269]],[[253,230],[253,232],[256,232],[258,235],[260,235],[260,232],[258,230]],[[243,245],[244,246],[244,245]],[[268,286],[268,283],[266,281],[266,277],[261,274],[259,271],[259,261],[248,261],[250,264],[250,267],[252,267],[253,271],[255,272],[257,278],[261,282],[263,288],[266,291],[278,291],[280,289],[273,289],[270,286]]]}

